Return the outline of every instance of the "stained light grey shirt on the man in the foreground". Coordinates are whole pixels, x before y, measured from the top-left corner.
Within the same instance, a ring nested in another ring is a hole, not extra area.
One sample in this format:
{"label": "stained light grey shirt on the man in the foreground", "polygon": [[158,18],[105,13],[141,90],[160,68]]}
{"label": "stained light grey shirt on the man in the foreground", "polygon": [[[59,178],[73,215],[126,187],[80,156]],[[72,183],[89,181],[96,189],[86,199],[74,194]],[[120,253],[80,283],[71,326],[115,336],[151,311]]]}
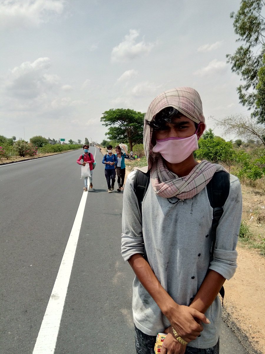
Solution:
{"label": "stained light grey shirt on the man in the foreground", "polygon": [[[230,192],[219,221],[210,262],[213,210],[207,188],[192,199],[162,198],[149,183],[142,202],[142,218],[134,193],[134,176],[128,175],[123,193],[122,256],[127,261],[135,253],[144,254],[160,284],[179,305],[192,302],[208,268],[230,279],[236,270],[236,243],[242,214],[241,187],[230,175]],[[190,347],[210,348],[219,338],[222,307],[219,297],[205,315],[210,324],[202,324],[201,336]],[[155,336],[170,326],[153,298],[135,277],[133,281],[133,318],[138,329]]]}

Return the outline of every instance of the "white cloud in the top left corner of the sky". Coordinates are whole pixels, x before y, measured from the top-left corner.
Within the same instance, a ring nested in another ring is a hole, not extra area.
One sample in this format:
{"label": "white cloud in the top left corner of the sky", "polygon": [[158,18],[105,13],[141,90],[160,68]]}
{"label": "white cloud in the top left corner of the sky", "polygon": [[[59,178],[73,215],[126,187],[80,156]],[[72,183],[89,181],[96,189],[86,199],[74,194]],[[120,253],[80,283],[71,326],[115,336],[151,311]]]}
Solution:
{"label": "white cloud in the top left corner of the sky", "polygon": [[2,0],[1,27],[30,27],[47,22],[64,10],[65,0]]}

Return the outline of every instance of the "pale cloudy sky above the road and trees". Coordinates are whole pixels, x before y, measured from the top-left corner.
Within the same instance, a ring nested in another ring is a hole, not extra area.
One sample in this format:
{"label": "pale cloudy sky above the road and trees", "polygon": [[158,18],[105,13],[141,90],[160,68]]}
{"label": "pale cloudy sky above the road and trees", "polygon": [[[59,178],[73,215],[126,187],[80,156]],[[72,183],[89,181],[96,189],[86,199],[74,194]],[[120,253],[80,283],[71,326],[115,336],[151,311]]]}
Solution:
{"label": "pale cloudy sky above the road and trees", "polygon": [[[190,86],[207,129],[247,115],[226,54],[240,0],[0,0],[0,135],[102,142],[102,113]],[[231,137],[225,137],[228,140]]]}

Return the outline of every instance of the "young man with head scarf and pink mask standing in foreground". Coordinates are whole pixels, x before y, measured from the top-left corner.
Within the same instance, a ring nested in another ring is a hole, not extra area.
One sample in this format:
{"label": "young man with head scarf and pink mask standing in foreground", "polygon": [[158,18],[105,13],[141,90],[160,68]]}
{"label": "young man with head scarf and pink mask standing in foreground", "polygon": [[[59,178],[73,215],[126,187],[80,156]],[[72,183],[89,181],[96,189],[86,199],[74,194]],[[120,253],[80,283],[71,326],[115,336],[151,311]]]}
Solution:
{"label": "young man with head scarf and pink mask standing in foreground", "polygon": [[[149,184],[140,207],[134,184],[140,171],[129,174],[122,212],[122,256],[136,275],[133,319],[139,354],[154,353],[158,332],[167,333],[161,354],[219,353],[218,292],[236,270],[242,195],[237,177],[194,159],[205,127],[199,93],[190,87],[163,92],[145,115]],[[211,257],[213,208],[206,185],[218,174],[228,177],[229,194]]]}

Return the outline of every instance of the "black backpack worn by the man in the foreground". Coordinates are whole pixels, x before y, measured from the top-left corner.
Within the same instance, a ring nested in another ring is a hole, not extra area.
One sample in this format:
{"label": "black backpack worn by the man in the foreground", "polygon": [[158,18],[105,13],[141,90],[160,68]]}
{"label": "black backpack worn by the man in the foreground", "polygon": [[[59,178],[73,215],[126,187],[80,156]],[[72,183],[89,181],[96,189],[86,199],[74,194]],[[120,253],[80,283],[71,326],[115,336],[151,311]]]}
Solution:
{"label": "black backpack worn by the man in the foreground", "polygon": [[[137,197],[140,212],[142,215],[142,201],[143,197],[146,194],[148,185],[150,182],[150,171],[144,173],[140,170],[136,171],[136,175],[134,178],[134,193]],[[225,171],[217,171],[214,173],[211,181],[206,185],[208,199],[210,201],[210,205],[213,208],[213,217],[212,217],[212,227],[211,227],[211,236],[212,236],[212,247],[210,253],[210,263],[213,260],[213,252],[214,252],[214,245],[216,242],[216,229],[219,223],[221,216],[223,215],[223,206],[226,202],[226,199],[229,195],[230,189],[230,177],[229,173]],[[144,257],[148,262],[148,258],[146,255],[146,249],[144,247]],[[222,299],[224,301],[224,287],[219,291]],[[222,301],[222,305],[223,305]]]}

